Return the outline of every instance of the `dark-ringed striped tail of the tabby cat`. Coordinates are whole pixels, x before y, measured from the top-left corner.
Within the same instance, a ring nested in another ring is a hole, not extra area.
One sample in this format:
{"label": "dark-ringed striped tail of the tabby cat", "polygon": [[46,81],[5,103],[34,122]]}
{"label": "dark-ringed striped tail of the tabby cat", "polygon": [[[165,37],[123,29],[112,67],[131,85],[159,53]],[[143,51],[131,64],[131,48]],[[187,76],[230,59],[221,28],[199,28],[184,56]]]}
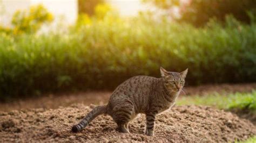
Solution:
{"label": "dark-ringed striped tail of the tabby cat", "polygon": [[96,106],[95,108],[93,108],[93,110],[91,112],[89,112],[86,117],[80,121],[79,124],[74,125],[72,127],[72,132],[79,132],[81,131],[84,127],[86,127],[90,121],[92,121],[94,118],[96,118],[99,115],[102,115],[104,113],[106,113],[106,105],[103,106]]}

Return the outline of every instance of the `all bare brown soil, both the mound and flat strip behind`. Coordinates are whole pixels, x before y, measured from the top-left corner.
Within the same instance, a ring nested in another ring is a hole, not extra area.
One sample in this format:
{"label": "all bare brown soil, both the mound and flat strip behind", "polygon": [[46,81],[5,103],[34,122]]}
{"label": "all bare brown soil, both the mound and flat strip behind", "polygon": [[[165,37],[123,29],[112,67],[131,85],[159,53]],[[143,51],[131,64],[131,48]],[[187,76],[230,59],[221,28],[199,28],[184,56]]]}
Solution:
{"label": "all bare brown soil, both the mound and flat strip behind", "polygon": [[[223,84],[189,87],[185,92],[191,96],[215,91],[225,95],[253,89],[256,84]],[[95,106],[90,103],[105,104],[110,95],[109,91],[81,92],[1,103],[0,142],[233,142],[256,135],[256,126],[247,119],[228,111],[194,105],[174,106],[158,115],[154,137],[144,135],[144,115],[131,121],[131,134],[119,133],[107,115],[97,117],[82,132],[70,132],[72,125]]]}

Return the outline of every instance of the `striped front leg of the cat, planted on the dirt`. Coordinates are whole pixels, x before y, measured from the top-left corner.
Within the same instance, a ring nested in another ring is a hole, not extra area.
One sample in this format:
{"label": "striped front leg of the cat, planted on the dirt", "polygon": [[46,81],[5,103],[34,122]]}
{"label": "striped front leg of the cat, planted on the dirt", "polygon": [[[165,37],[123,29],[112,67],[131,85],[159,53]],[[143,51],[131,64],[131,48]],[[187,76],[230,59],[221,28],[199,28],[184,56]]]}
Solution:
{"label": "striped front leg of the cat, planted on the dirt", "polygon": [[154,135],[154,122],[156,120],[156,113],[154,113],[154,112],[146,113],[146,120],[147,120],[147,126],[146,126],[145,134],[149,135],[149,136],[153,136]]}

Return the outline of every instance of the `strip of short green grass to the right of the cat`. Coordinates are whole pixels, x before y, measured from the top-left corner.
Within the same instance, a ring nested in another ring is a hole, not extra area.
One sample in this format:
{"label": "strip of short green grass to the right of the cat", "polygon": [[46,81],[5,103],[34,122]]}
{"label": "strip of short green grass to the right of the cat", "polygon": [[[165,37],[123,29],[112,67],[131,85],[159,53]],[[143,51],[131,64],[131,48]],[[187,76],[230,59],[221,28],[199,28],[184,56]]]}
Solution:
{"label": "strip of short green grass to the right of the cat", "polygon": [[204,95],[179,97],[177,105],[207,105],[219,109],[248,109],[256,113],[256,91],[230,95]]}

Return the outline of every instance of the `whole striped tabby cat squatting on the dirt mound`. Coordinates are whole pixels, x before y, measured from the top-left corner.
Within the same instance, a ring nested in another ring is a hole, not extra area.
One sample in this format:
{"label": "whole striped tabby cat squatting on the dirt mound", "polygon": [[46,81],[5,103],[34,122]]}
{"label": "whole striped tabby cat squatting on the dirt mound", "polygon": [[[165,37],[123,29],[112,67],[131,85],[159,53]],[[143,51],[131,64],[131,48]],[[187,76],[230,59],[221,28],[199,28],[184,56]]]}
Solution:
{"label": "whole striped tabby cat squatting on the dirt mound", "polygon": [[79,132],[95,117],[107,114],[117,123],[119,131],[129,132],[129,121],[139,113],[146,115],[145,134],[154,135],[156,115],[170,109],[184,87],[187,70],[170,72],[160,67],[160,78],[134,76],[120,84],[112,93],[107,105],[96,106],[72,132]]}

